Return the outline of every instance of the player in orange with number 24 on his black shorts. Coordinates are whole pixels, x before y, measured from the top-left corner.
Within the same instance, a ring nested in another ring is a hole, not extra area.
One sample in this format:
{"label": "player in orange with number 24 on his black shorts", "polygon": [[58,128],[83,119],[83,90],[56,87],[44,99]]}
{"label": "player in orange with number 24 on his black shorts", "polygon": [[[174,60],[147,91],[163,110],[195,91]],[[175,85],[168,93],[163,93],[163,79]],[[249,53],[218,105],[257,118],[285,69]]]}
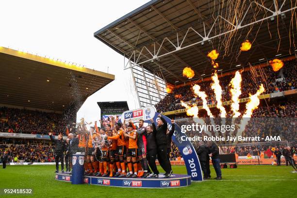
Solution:
{"label": "player in orange with number 24 on his black shorts", "polygon": [[[127,163],[129,168],[129,173],[126,177],[137,177],[137,164],[136,164],[136,156],[137,156],[137,134],[136,130],[133,130],[133,126],[131,124],[128,125],[127,132],[124,131],[124,135],[129,137],[129,148],[127,153]],[[134,167],[134,174],[132,172],[132,164]]]}

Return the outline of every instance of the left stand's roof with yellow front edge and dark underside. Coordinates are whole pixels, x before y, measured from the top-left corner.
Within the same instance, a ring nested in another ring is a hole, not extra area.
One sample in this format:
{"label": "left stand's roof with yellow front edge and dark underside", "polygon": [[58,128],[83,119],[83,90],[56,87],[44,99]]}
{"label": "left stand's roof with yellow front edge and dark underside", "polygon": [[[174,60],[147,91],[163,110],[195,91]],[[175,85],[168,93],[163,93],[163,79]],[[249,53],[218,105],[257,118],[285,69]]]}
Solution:
{"label": "left stand's roof with yellow front edge and dark underside", "polygon": [[0,71],[1,104],[60,112],[115,80],[112,74],[4,47]]}

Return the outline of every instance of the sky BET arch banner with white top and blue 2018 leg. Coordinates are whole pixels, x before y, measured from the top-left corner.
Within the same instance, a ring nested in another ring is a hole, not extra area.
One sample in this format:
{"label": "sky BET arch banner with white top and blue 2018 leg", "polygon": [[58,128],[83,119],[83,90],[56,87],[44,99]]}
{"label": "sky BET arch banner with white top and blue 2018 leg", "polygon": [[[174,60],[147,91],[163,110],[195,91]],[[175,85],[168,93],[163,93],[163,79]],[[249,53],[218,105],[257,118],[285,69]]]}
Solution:
{"label": "sky BET arch banner with white top and blue 2018 leg", "polygon": [[[122,114],[122,118],[126,119],[128,121],[129,119],[132,119],[132,122],[138,122],[139,119],[143,119],[146,123],[150,123],[150,118],[153,118],[155,124],[157,125],[157,119],[159,113],[156,112],[155,107],[144,107],[141,109],[126,111]],[[166,117],[165,115],[162,115],[166,122],[168,123],[168,129],[171,129],[171,122],[170,118]],[[123,121],[122,121],[123,122]],[[187,139],[185,141],[181,140],[181,137],[185,136],[185,133],[181,132],[181,128],[176,124],[175,125],[175,132],[172,136],[173,142],[176,144],[176,146],[179,148],[182,158],[184,160],[184,164],[186,165],[188,175],[191,176],[191,180],[193,181],[203,181],[202,177],[202,171],[200,167],[200,163],[198,160],[198,156],[196,153],[196,150],[194,149],[192,143]]]}

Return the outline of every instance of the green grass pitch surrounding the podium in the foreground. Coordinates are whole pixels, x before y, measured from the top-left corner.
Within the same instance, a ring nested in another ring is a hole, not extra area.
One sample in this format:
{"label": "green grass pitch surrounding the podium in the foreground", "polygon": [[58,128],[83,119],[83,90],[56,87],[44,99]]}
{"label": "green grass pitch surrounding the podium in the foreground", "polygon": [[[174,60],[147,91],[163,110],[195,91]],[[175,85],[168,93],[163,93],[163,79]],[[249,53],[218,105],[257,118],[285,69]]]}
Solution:
{"label": "green grass pitch surrounding the podium in the foreground", "polygon": [[[54,165],[12,165],[6,169],[0,168],[0,188],[32,188],[33,195],[21,197],[36,198],[288,198],[297,194],[297,174],[291,173],[292,168],[289,166],[239,165],[237,169],[222,169],[222,181],[211,179],[171,189],[72,185],[56,181],[54,169]],[[185,166],[173,166],[173,171],[186,174]],[[214,178],[214,169],[211,171]]]}

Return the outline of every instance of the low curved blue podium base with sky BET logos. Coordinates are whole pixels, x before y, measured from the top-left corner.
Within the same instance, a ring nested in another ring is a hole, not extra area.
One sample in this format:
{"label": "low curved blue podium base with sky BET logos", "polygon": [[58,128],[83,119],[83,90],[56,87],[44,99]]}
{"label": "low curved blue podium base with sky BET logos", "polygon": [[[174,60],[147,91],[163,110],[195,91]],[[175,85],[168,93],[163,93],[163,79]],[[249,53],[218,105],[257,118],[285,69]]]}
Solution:
{"label": "low curved blue podium base with sky BET logos", "polygon": [[[71,182],[72,175],[66,173],[56,173],[55,179]],[[83,181],[85,184],[101,186],[129,188],[177,188],[190,185],[191,177],[189,175],[180,174],[173,174],[170,178],[164,178],[163,174],[160,174],[158,179],[85,176]]]}

